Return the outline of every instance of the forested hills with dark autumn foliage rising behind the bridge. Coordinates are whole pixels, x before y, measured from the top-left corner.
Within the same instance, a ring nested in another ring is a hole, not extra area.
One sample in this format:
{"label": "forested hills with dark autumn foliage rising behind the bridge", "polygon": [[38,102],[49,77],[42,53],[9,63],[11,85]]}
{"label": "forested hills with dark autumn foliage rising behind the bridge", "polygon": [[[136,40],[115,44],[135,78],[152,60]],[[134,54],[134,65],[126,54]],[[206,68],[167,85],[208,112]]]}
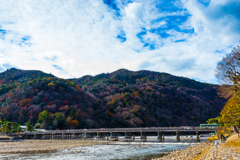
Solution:
{"label": "forested hills with dark autumn foliage rising behind the bridge", "polygon": [[199,125],[218,116],[226,102],[217,85],[145,70],[64,80],[10,69],[0,80],[1,119],[36,123],[46,110],[52,118],[45,127],[53,128],[61,127],[56,113],[65,115],[66,124],[78,120],[77,128]]}

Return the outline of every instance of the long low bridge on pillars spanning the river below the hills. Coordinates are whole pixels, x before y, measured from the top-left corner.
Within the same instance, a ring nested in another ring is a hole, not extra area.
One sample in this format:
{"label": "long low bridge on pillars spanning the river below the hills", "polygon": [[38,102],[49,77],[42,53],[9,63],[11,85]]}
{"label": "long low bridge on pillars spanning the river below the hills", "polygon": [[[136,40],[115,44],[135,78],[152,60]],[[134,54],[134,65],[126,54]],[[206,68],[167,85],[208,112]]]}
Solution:
{"label": "long low bridge on pillars spanning the river below the hills", "polygon": [[[200,127],[146,127],[146,128],[100,128],[73,130],[46,130],[25,132],[26,139],[84,139],[118,141],[119,133],[124,134],[124,141],[135,141],[135,134],[140,133],[140,140],[147,141],[147,133],[157,133],[157,141],[164,141],[164,133],[176,133],[176,140],[180,142],[180,132],[195,132],[196,141],[200,141],[200,132],[212,133],[216,129]],[[109,136],[110,135],[110,136]]]}

